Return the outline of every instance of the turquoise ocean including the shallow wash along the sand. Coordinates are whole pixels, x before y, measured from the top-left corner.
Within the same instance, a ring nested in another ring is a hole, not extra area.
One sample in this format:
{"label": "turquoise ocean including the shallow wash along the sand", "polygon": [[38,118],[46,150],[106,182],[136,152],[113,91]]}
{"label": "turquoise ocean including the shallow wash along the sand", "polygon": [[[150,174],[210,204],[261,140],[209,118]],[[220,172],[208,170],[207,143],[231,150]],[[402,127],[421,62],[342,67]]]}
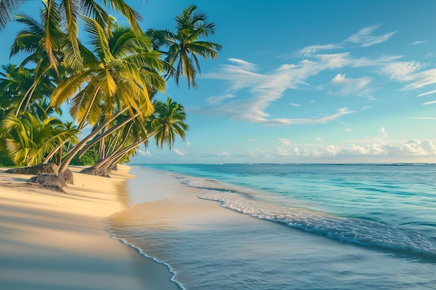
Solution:
{"label": "turquoise ocean including the shallow wash along the sand", "polygon": [[180,289],[436,289],[435,164],[132,168],[135,191],[159,170],[239,213],[189,227],[170,215],[159,228],[138,204],[129,223],[109,218],[108,231],[167,265]]}

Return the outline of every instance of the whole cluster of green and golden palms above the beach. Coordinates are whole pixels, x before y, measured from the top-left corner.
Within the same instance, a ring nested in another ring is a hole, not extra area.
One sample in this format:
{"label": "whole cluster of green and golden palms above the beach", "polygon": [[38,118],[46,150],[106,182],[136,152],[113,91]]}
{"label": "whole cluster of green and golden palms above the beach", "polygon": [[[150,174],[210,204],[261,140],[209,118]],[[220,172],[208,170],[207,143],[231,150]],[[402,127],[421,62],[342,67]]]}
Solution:
{"label": "whole cluster of green and golden palms above the beach", "polygon": [[[38,19],[15,16],[24,28],[10,56],[26,57],[0,72],[0,149],[15,165],[52,164],[40,168],[63,176],[70,164],[80,164],[91,166],[86,173],[107,175],[152,138],[169,149],[177,137],[185,139],[184,107],[155,96],[164,94],[172,78],[197,87],[199,58],[215,59],[221,49],[206,41],[215,24],[189,6],[176,16],[175,32],[143,32],[141,15],[124,1],[100,2],[123,14],[130,26],[119,26],[92,0],[42,1]],[[3,17],[0,27],[7,21]],[[86,45],[78,38],[79,21]],[[63,121],[65,108],[72,122]]]}

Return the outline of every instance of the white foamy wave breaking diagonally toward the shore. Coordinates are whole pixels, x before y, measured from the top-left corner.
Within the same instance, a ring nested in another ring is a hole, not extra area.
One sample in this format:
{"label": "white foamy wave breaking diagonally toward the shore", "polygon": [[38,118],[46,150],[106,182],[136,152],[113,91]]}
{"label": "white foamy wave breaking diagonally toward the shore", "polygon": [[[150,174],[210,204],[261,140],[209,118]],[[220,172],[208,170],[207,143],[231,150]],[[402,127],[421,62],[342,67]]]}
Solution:
{"label": "white foamy wave breaking diagonally toward the shore", "polygon": [[215,200],[221,202],[223,207],[242,214],[281,223],[346,243],[436,257],[436,241],[418,230],[402,229],[359,218],[344,218],[304,209],[279,207],[251,200],[236,193],[209,191],[198,198]]}

